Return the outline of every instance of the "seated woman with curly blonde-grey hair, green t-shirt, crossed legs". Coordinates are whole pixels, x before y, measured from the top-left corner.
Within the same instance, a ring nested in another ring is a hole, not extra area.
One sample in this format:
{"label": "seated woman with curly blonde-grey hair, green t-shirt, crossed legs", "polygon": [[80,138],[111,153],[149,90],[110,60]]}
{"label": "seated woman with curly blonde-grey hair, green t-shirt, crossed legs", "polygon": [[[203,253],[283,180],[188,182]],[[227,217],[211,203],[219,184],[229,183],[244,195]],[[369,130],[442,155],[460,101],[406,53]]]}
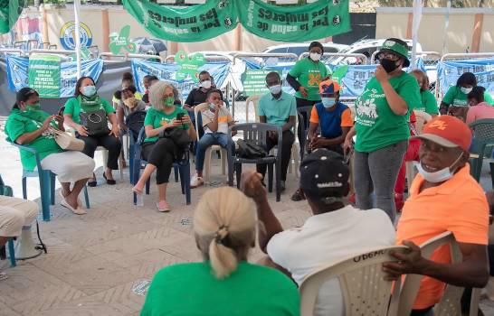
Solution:
{"label": "seated woman with curly blonde-grey hair, green t-shirt, crossed legs", "polygon": [[142,144],[142,157],[147,161],[147,165],[132,190],[137,194],[142,194],[147,179],[156,170],[159,192],[157,209],[160,212],[168,212],[170,211],[170,206],[166,202],[166,185],[168,184],[173,163],[178,159],[177,155],[180,150],[173,140],[166,137],[160,138],[159,135],[166,128],[171,127],[185,129],[192,141],[195,141],[196,134],[187,111],[181,107],[176,107],[171,84],[165,81],[154,83],[149,91],[149,103],[151,107],[147,110],[146,118],[144,119],[147,138]]}

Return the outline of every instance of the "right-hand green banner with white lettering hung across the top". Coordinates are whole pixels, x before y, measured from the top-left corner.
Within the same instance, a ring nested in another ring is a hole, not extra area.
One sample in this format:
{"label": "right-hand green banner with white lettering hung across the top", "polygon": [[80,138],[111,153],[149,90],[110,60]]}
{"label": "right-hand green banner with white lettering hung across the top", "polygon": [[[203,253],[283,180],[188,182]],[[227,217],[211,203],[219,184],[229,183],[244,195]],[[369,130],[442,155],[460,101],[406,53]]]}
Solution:
{"label": "right-hand green banner with white lettering hung across the top", "polygon": [[272,41],[306,42],[350,31],[349,0],[319,0],[296,7],[236,0],[235,5],[248,32]]}

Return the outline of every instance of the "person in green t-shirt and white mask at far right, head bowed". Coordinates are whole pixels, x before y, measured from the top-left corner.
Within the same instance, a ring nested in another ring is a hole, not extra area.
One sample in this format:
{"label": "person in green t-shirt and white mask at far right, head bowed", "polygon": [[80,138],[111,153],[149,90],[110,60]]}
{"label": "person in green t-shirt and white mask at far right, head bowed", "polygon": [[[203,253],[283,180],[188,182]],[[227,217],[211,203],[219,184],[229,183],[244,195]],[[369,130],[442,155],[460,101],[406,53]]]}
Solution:
{"label": "person in green t-shirt and white mask at far right, head bowed", "polygon": [[[442,115],[456,116],[465,121],[469,109],[468,94],[473,87],[477,87],[477,78],[471,72],[463,73],[456,81],[456,86],[448,89],[442,98],[439,111]],[[490,105],[494,104],[489,92],[485,92],[484,99]]]}

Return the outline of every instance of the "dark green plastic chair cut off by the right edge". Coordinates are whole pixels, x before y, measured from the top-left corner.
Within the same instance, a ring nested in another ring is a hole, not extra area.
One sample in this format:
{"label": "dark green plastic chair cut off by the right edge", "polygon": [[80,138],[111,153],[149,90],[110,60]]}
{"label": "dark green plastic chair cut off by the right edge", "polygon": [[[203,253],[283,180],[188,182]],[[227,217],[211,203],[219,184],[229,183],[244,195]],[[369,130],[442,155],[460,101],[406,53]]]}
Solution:
{"label": "dark green plastic chair cut off by the right edge", "polygon": [[[469,125],[473,132],[473,148],[471,150],[471,176],[480,181],[480,172],[484,158],[489,159],[494,147],[494,118],[477,120]],[[489,154],[486,154],[488,152]],[[492,173],[492,185],[494,187],[494,161],[489,159],[490,171]]]}

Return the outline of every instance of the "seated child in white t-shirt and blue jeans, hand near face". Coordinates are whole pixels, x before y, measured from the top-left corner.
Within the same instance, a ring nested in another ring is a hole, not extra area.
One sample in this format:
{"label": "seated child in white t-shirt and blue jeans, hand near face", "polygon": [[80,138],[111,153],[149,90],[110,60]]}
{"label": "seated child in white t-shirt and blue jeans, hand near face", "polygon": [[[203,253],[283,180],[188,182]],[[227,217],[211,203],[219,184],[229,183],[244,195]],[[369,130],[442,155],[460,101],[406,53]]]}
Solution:
{"label": "seated child in white t-shirt and blue jeans, hand near face", "polygon": [[233,116],[224,107],[220,90],[210,90],[207,93],[206,101],[209,107],[201,112],[204,135],[197,142],[195,150],[196,173],[190,181],[190,187],[192,189],[204,184],[204,155],[207,148],[214,144],[219,144],[223,148],[226,148],[228,146],[228,128],[234,125]]}

